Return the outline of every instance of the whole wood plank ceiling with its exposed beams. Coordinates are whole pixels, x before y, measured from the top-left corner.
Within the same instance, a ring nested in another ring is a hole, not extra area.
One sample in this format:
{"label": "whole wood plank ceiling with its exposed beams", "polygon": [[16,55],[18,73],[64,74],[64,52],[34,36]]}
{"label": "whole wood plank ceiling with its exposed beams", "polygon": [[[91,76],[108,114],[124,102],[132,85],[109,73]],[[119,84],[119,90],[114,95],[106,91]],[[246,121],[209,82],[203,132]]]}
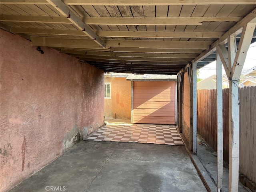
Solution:
{"label": "whole wood plank ceiling with its exposed beams", "polygon": [[255,9],[255,0],[1,0],[0,20],[105,72],[177,74]]}

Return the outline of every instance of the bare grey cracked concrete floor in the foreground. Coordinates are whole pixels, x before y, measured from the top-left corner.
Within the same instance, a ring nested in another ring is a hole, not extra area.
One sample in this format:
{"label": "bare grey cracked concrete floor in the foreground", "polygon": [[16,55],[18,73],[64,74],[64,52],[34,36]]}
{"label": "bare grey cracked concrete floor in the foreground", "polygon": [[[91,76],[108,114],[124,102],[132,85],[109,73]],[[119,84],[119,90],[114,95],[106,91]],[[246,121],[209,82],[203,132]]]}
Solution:
{"label": "bare grey cracked concrete floor in the foreground", "polygon": [[10,192],[51,186],[66,192],[206,192],[184,146],[132,142],[82,141]]}

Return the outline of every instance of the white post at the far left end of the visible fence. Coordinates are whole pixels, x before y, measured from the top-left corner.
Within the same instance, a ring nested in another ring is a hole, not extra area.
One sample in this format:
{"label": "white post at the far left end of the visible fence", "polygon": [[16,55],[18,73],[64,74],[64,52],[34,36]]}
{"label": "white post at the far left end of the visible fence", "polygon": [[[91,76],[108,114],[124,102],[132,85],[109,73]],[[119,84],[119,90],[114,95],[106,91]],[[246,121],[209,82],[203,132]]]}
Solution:
{"label": "white post at the far left end of the visible fence", "polygon": [[197,152],[197,90],[196,90],[196,64],[192,64],[192,127],[193,127],[193,153]]}

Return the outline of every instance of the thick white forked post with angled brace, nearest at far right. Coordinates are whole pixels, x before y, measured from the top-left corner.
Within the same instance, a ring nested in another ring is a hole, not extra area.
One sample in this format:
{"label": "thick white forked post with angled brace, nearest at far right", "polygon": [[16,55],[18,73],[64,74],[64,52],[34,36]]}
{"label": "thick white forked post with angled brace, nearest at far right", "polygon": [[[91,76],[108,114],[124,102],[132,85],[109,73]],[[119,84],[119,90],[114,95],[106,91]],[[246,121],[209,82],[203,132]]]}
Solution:
{"label": "thick white forked post with angled brace, nearest at far right", "polygon": [[244,25],[236,52],[235,37],[228,38],[229,55],[229,192],[238,192],[239,179],[239,98],[238,81],[248,48],[250,46],[255,23]]}

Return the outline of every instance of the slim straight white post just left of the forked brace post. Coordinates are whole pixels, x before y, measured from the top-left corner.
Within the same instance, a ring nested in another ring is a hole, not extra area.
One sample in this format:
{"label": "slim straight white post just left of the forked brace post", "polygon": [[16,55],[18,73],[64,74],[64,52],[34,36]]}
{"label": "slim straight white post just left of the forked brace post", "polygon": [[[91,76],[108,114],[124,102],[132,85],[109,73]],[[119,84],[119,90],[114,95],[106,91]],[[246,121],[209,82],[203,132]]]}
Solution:
{"label": "slim straight white post just left of the forked brace post", "polygon": [[222,62],[217,52],[217,188],[222,191],[223,178],[223,122],[222,122]]}

